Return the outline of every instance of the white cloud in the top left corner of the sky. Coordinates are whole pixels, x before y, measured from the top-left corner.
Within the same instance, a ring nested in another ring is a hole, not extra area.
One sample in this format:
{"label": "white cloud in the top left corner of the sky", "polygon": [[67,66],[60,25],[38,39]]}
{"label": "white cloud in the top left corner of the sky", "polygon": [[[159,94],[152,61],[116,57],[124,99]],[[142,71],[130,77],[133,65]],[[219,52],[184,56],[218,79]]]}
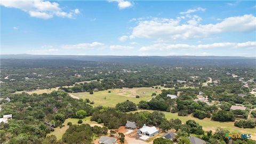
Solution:
{"label": "white cloud in the top left corner of the sky", "polygon": [[61,9],[58,3],[50,1],[0,1],[0,4],[5,7],[12,7],[27,12],[30,17],[50,19],[54,16],[63,18],[74,18],[75,14],[79,13],[78,9],[65,12]]}

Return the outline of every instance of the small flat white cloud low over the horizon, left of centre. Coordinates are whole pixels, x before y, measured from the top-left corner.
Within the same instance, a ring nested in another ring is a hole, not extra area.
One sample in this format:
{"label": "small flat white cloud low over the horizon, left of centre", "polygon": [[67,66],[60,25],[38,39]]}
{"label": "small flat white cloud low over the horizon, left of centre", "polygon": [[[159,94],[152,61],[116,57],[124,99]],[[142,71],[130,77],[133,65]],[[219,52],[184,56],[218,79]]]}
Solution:
{"label": "small flat white cloud low over the horizon, left of centre", "polygon": [[94,48],[101,48],[105,44],[99,43],[99,42],[93,42],[93,43],[79,43],[79,44],[74,44],[74,45],[63,45],[63,49],[94,49]]}

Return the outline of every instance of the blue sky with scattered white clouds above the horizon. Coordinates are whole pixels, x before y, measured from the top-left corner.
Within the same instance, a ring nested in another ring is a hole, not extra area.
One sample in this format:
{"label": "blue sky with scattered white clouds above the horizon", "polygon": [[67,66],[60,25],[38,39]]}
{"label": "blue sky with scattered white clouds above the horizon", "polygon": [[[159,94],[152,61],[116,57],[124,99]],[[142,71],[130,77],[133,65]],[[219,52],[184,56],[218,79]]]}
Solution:
{"label": "blue sky with scattered white clouds above the horizon", "polygon": [[255,1],[1,1],[1,54],[256,56]]}

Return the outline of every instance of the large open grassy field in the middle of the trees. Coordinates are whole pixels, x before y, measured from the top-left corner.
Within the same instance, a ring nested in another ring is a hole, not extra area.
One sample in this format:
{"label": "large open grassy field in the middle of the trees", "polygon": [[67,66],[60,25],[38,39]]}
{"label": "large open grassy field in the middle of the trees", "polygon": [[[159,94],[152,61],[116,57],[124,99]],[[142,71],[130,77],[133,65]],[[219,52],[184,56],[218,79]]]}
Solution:
{"label": "large open grassy field in the middle of the trees", "polygon": [[[90,99],[94,101],[93,106],[108,106],[115,107],[118,102],[124,102],[126,100],[132,101],[134,103],[139,103],[141,100],[150,100],[152,93],[159,94],[162,89],[155,89],[152,87],[135,87],[133,89],[123,88],[123,89],[110,89],[105,91],[94,92],[89,94],[89,92],[79,92],[72,93],[81,99]],[[111,91],[111,93],[108,93]],[[136,95],[140,95],[140,98],[135,98]],[[106,100],[105,100],[106,97]]]}

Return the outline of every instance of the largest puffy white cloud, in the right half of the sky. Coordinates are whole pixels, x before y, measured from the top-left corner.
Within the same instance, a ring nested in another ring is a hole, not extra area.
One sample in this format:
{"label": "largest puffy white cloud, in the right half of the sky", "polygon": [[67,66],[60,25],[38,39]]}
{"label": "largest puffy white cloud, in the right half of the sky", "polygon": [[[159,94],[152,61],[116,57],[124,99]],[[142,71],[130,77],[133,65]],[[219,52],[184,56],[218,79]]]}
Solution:
{"label": "largest puffy white cloud, in the right half of the sky", "polygon": [[229,17],[219,23],[198,24],[201,18],[194,15],[194,21],[180,23],[180,19],[153,18],[139,21],[132,28],[130,38],[160,38],[160,39],[189,39],[208,37],[225,32],[247,32],[256,29],[256,17],[245,14],[239,17]]}

